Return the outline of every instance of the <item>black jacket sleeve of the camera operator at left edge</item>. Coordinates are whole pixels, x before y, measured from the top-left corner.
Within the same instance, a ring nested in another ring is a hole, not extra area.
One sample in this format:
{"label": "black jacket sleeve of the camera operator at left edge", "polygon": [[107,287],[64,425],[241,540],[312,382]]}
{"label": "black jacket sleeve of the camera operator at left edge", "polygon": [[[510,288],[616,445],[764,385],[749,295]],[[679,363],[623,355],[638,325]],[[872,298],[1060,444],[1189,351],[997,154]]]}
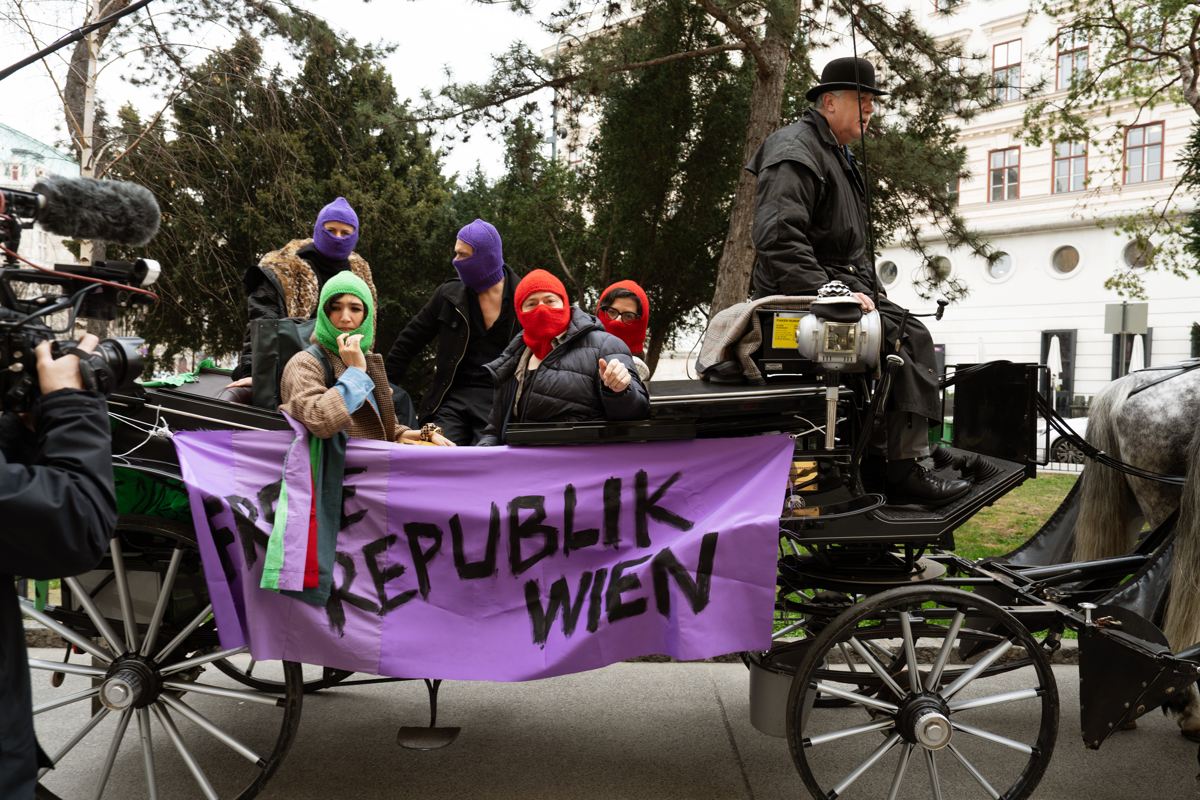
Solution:
{"label": "black jacket sleeve of the camera operator at left edge", "polygon": [[[36,579],[88,572],[116,527],[107,403],[98,392],[61,389],[35,403],[34,427],[26,435],[18,415],[0,419],[2,571]],[[12,461],[19,450],[28,463]]]}

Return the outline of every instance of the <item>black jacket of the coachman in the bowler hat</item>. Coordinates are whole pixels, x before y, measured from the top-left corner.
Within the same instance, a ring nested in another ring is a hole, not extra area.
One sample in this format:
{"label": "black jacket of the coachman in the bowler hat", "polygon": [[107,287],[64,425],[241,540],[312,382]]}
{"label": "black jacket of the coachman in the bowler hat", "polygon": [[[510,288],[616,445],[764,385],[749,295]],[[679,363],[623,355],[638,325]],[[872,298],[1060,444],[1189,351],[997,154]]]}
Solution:
{"label": "black jacket of the coachman in the bowler hat", "polygon": [[874,282],[858,164],[815,109],[767,137],[746,169],[755,191],[755,299],[815,295],[829,281]]}

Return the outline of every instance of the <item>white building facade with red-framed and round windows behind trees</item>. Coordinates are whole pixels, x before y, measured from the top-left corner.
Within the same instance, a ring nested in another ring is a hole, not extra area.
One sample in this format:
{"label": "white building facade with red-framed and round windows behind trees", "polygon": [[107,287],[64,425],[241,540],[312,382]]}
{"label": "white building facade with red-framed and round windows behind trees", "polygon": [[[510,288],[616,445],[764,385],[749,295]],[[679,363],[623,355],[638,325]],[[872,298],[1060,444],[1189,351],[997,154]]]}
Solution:
{"label": "white building facade with red-framed and round windows behind trees", "polygon": [[[1086,42],[1055,41],[1056,23],[1027,16],[1024,1],[966,0],[953,14],[938,11],[935,0],[902,1],[935,36],[961,41],[968,53],[986,53],[986,66],[1014,86],[1032,86],[1044,77],[1049,89],[1066,95],[1074,65],[1091,55]],[[1129,337],[1121,363],[1120,339],[1104,333],[1105,305],[1141,302],[1104,288],[1108,277],[1127,263],[1136,265],[1140,255],[1130,236],[1116,234],[1112,218],[1171,193],[1180,170],[1175,160],[1198,118],[1190,108],[1169,104],[1138,115],[1130,101],[1117,104],[1111,116],[1126,126],[1123,151],[1088,152],[1084,143],[1030,146],[1016,136],[1027,106],[1022,92],[997,91],[1006,92],[1000,109],[962,125],[959,140],[967,148],[972,179],[958,188],[967,223],[1006,255],[989,266],[930,236],[929,247],[944,259],[940,271],[966,284],[970,294],[942,321],[925,321],[949,365],[976,362],[980,344],[988,360],[1044,363],[1050,338],[1058,336],[1062,389],[1078,407],[1124,372],[1134,347]],[[1181,207],[1193,209],[1194,200]],[[878,265],[893,300],[913,311],[931,309],[913,288],[913,278],[928,269],[919,255],[890,246]],[[1150,327],[1141,339],[1145,365],[1189,357],[1190,327],[1200,321],[1200,276],[1152,270],[1142,277]],[[1063,396],[1058,404],[1066,410]]]}

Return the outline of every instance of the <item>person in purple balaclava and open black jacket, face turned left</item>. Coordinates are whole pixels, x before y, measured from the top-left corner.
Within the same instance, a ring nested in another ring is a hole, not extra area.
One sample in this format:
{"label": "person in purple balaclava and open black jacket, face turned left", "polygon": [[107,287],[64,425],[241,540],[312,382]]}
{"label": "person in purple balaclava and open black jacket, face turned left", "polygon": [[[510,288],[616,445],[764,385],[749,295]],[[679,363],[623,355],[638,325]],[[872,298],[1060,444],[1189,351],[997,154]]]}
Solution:
{"label": "person in purple balaclava and open black jacket, face turned left", "polygon": [[437,372],[416,420],[440,427],[456,445],[473,445],[492,411],[492,375],[484,365],[521,332],[512,302],[520,281],[504,264],[499,231],[482,219],[458,231],[451,264],[457,277],[434,289],[401,331],[385,368],[388,380],[398,384],[416,354],[437,338]]}

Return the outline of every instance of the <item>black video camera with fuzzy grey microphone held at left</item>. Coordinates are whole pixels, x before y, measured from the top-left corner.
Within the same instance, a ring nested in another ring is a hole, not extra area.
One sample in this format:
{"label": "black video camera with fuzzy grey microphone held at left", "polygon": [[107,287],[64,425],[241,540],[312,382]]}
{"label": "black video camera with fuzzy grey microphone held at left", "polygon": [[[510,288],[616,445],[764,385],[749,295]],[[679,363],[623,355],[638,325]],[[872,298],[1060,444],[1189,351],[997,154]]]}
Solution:
{"label": "black video camera with fuzzy grey microphone held at left", "polygon": [[[32,192],[0,188],[0,410],[28,411],[40,393],[35,348],[50,339],[55,359],[79,356],[84,389],[106,397],[132,389],[142,374],[145,342],[134,336],[103,339],[86,354],[73,341],[56,339],[72,331],[76,317],[115,319],[118,308],[150,303],[158,296],[146,287],[158,279],[161,267],[151,259],[104,260],[95,264],[55,264],[53,270],[19,266],[20,231],[41,223],[52,234],[73,239],[101,239],[140,246],[158,231],[161,213],[144,186],[90,178],[48,178]],[[16,284],[16,285],[14,285]],[[18,291],[20,284],[56,288]],[[53,329],[44,319],[68,312],[67,323]]]}

